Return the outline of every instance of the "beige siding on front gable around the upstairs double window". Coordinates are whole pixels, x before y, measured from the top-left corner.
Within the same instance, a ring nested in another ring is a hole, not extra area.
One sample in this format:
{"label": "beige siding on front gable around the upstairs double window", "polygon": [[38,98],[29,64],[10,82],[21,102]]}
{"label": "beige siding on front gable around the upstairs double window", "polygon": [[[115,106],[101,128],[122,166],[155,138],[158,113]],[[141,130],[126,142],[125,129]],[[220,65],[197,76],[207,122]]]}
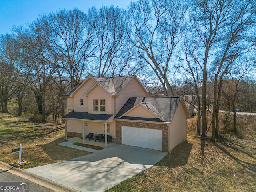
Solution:
{"label": "beige siding on front gable around the upstairs double window", "polygon": [[[112,114],[112,97],[106,90],[96,85],[88,93],[88,113],[98,113],[98,114]],[[93,110],[93,100],[98,99],[98,111]],[[105,111],[100,111],[100,99],[105,99]]]}

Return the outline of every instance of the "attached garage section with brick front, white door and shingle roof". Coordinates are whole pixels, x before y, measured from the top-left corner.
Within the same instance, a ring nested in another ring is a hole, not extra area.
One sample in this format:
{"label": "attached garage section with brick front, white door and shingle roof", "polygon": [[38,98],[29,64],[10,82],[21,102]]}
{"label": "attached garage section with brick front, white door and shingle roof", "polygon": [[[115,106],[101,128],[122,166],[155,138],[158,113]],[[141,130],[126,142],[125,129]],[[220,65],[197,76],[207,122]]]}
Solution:
{"label": "attached garage section with brick front, white door and shingle roof", "polygon": [[114,117],[114,142],[169,152],[186,139],[188,117],[180,97],[129,98]]}

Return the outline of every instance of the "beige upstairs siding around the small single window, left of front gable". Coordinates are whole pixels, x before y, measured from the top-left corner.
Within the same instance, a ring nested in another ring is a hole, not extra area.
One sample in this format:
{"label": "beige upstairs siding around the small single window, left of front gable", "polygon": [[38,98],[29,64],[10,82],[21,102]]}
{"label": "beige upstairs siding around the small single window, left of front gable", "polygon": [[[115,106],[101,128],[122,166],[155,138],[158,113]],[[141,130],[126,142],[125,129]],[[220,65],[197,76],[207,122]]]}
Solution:
{"label": "beige upstairs siding around the small single window, left of front gable", "polygon": [[[92,88],[96,83],[89,78],[80,88],[73,94],[74,96],[74,111],[88,112],[88,101],[84,94]],[[80,105],[80,99],[83,99],[83,105]]]}

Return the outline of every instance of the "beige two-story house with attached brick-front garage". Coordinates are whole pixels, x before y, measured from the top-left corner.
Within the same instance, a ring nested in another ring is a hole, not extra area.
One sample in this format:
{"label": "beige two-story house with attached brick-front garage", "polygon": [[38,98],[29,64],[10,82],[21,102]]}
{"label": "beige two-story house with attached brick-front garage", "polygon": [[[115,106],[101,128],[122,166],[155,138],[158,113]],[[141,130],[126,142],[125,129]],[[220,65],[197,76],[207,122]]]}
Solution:
{"label": "beige two-story house with attached brick-front garage", "polygon": [[189,114],[182,98],[148,97],[136,76],[88,76],[64,97],[65,138],[85,140],[92,132],[112,135],[116,144],[165,152],[186,139]]}

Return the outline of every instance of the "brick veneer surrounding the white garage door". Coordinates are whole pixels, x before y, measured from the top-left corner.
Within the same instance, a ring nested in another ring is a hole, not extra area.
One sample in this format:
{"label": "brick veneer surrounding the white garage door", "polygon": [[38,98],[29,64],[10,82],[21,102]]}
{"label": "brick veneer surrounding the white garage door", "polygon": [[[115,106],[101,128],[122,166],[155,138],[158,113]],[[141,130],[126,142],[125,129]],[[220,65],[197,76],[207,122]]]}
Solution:
{"label": "brick veneer surrounding the white garage door", "polygon": [[116,144],[122,144],[122,131],[121,131],[122,126],[162,130],[162,151],[168,152],[168,125],[167,124],[116,121],[116,138],[114,138],[114,142]]}

